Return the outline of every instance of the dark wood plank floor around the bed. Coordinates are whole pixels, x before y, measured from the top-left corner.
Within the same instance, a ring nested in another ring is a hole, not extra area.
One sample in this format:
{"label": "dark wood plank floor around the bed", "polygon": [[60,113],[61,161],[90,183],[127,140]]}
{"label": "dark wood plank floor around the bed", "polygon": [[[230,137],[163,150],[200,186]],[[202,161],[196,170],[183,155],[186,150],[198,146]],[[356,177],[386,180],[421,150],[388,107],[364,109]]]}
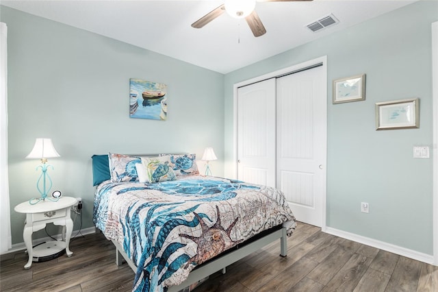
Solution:
{"label": "dark wood plank floor around the bed", "polygon": [[[438,267],[321,232],[298,223],[286,258],[279,241],[217,272],[205,291],[438,291]],[[115,249],[102,234],[70,243],[65,255],[25,270],[25,252],[0,258],[1,291],[131,291],[128,265],[117,267]]]}

